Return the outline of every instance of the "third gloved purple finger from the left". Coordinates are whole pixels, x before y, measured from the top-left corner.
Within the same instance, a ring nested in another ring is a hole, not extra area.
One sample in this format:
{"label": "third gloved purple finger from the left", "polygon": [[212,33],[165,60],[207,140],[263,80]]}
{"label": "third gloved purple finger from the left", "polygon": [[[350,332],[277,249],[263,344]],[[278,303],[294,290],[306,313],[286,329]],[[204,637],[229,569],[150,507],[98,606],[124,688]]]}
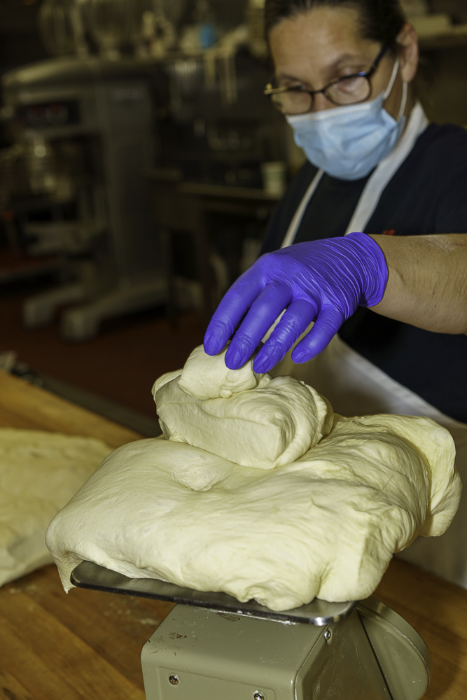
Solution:
{"label": "third gloved purple finger from the left", "polygon": [[294,300],[253,360],[253,370],[261,373],[272,370],[313,321],[317,311],[313,302]]}

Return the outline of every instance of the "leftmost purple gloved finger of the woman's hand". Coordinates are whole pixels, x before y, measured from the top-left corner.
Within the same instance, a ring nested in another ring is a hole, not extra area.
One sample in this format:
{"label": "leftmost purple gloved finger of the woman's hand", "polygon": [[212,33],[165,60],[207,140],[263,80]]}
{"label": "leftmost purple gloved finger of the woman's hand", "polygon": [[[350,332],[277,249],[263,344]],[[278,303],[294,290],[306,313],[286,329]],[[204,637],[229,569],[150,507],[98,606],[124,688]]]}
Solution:
{"label": "leftmost purple gloved finger of the woman's hand", "polygon": [[217,355],[242,320],[253,301],[265,288],[265,281],[257,274],[255,265],[242,274],[225,293],[204,334],[204,351]]}

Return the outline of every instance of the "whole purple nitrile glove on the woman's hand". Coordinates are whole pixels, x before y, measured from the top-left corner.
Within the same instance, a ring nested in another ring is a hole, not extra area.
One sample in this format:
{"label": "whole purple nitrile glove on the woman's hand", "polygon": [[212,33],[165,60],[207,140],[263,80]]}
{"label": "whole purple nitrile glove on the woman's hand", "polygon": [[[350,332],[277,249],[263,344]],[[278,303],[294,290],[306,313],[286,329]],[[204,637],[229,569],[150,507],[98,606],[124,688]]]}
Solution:
{"label": "whole purple nitrile glove on the woman's hand", "polygon": [[294,362],[306,362],[326,347],[358,306],[382,300],[387,278],[381,248],[364,233],[267,253],[223,297],[204,336],[204,350],[208,355],[221,352],[246,314],[225,353],[225,364],[237,370],[286,309],[258,351],[253,370],[272,369],[314,321],[292,353]]}

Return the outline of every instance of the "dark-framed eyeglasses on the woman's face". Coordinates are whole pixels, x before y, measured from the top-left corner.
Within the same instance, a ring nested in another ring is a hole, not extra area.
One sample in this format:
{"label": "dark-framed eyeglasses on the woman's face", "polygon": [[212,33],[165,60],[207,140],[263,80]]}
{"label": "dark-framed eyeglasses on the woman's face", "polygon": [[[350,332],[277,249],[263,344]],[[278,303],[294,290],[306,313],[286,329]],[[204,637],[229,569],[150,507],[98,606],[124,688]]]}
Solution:
{"label": "dark-framed eyeglasses on the woman's face", "polygon": [[274,107],[283,114],[305,114],[312,111],[314,96],[320,92],[337,106],[365,102],[371,94],[370,78],[387,50],[388,47],[383,46],[368,71],[335,78],[328,85],[321,87],[321,90],[304,90],[300,85],[277,87],[273,81],[266,85],[264,94],[270,96]]}

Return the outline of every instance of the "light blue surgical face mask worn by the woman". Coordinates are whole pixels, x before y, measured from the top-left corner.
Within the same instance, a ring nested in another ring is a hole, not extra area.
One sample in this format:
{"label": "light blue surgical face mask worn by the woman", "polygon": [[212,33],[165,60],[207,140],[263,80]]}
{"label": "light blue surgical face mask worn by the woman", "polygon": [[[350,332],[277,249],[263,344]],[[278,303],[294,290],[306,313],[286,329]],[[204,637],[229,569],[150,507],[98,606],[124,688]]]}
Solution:
{"label": "light blue surgical face mask worn by the woman", "polygon": [[391,153],[405,125],[407,83],[403,83],[397,120],[383,104],[391,94],[398,67],[397,59],[385,92],[370,102],[287,117],[295,143],[313,165],[341,180],[359,180]]}

